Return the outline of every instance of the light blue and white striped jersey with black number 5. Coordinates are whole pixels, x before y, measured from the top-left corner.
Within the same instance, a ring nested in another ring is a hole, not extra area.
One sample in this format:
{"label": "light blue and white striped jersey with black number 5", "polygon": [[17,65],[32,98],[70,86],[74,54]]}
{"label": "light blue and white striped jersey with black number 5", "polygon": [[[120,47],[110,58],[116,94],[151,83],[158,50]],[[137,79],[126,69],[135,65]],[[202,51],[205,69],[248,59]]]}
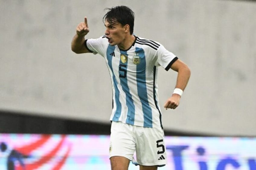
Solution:
{"label": "light blue and white striped jersey with black number 5", "polygon": [[126,51],[107,38],[88,39],[85,47],[106,60],[113,91],[111,121],[162,127],[158,100],[158,66],[168,70],[178,58],[158,42],[136,37]]}

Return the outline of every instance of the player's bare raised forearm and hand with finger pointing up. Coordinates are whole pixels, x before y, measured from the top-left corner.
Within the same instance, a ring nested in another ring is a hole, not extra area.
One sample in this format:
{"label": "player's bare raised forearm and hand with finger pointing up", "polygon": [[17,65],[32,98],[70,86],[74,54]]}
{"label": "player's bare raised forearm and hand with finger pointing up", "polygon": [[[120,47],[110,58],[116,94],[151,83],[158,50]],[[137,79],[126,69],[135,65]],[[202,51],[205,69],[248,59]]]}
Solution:
{"label": "player's bare raised forearm and hand with finger pointing up", "polygon": [[89,27],[87,24],[87,17],[85,17],[85,22],[80,23],[76,27],[76,34],[71,42],[71,50],[75,52],[76,54],[81,53],[89,53],[90,51],[85,48],[84,42],[85,42],[85,35],[87,35],[89,32]]}

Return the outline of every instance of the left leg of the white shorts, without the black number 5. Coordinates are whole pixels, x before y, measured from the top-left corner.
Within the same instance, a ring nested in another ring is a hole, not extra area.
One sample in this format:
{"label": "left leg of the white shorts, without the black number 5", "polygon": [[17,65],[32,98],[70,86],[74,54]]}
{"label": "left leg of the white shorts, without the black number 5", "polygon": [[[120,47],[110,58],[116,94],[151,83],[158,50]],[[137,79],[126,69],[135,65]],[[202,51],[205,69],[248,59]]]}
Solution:
{"label": "left leg of the white shorts, without the black number 5", "polygon": [[[125,157],[132,160],[136,149],[133,127],[122,122],[112,122],[110,134],[110,158],[113,156]],[[118,157],[115,159],[119,159]]]}

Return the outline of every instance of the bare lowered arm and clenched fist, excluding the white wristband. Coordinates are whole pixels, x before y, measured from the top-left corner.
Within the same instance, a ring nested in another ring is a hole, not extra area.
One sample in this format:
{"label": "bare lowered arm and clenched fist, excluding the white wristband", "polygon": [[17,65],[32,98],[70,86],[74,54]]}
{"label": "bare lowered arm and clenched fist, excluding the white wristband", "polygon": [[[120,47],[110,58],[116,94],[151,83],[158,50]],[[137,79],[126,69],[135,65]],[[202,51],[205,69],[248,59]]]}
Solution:
{"label": "bare lowered arm and clenched fist, excluding the white wristband", "polygon": [[[183,63],[179,59],[171,65],[171,69],[178,72],[175,88],[180,88],[182,91],[184,91],[190,77],[190,69],[185,63]],[[168,98],[165,102],[165,109],[175,109],[176,107],[178,107],[180,103],[180,98],[181,95],[176,93],[172,94],[172,96]]]}

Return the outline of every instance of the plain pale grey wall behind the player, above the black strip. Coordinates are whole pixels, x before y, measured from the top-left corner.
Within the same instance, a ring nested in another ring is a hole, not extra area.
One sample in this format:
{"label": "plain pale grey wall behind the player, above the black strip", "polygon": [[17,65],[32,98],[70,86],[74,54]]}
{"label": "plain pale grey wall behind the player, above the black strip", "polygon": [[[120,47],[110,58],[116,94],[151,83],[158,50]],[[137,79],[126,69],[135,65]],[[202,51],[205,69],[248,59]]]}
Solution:
{"label": "plain pale grey wall behind the player, above the black strip", "polygon": [[[161,42],[192,75],[165,129],[256,134],[256,3],[221,0],[0,0],[0,109],[108,122],[112,91],[104,59],[74,54],[71,39],[88,17],[87,38],[104,34],[104,8],[128,5],[135,34]],[[177,74],[159,71],[163,106]]]}

